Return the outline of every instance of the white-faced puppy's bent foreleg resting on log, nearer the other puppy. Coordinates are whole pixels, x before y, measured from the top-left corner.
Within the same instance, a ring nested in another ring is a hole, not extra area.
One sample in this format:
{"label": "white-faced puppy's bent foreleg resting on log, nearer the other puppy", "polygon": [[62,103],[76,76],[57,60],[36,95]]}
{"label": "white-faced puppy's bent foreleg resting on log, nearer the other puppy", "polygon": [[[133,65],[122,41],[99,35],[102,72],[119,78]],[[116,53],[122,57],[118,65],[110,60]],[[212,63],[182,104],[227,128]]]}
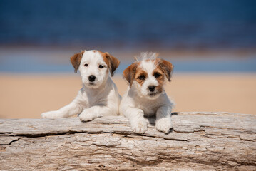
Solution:
{"label": "white-faced puppy's bent foreleg resting on log, nearer the other puppy", "polygon": [[86,108],[79,115],[83,122],[88,122],[96,118],[101,118],[103,115],[115,115],[116,111],[104,105],[94,105],[91,108]]}

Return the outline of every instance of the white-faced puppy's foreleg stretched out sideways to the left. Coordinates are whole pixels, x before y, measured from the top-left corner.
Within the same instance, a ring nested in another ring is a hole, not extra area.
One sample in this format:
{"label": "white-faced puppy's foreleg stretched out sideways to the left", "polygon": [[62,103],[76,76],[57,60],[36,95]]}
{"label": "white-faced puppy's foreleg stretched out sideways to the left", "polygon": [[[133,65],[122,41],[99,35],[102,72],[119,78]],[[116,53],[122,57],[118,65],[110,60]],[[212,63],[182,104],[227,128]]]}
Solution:
{"label": "white-faced puppy's foreleg stretched out sideways to the left", "polygon": [[81,104],[76,103],[76,101],[73,100],[70,104],[60,108],[59,110],[42,113],[41,118],[67,118],[81,113],[82,110],[83,108]]}

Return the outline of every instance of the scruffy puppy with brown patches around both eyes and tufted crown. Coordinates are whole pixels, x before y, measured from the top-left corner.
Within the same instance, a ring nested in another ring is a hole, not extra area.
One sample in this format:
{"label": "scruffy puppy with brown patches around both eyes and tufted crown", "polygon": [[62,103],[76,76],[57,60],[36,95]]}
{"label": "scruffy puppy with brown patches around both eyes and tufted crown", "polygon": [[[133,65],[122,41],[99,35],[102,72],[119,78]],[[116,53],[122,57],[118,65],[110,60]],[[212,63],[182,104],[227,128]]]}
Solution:
{"label": "scruffy puppy with brown patches around both eyes and tufted crown", "polygon": [[173,127],[170,115],[173,103],[165,93],[165,79],[170,81],[172,63],[157,58],[156,53],[140,53],[142,61],[135,61],[123,71],[130,87],[123,95],[119,111],[129,119],[135,133],[145,133],[145,116],[156,115],[155,128],[169,133]]}

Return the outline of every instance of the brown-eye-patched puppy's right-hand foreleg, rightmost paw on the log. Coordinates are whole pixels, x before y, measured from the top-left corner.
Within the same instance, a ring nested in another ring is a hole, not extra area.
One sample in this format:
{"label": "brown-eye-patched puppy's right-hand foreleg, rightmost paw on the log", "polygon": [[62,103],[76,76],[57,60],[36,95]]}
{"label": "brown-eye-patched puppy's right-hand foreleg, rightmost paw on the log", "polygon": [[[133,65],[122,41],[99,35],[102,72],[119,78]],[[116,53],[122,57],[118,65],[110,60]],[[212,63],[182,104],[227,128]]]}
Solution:
{"label": "brown-eye-patched puppy's right-hand foreleg, rightmost paw on the log", "polygon": [[172,108],[170,106],[162,106],[156,112],[155,128],[163,133],[169,133],[173,128],[170,120]]}

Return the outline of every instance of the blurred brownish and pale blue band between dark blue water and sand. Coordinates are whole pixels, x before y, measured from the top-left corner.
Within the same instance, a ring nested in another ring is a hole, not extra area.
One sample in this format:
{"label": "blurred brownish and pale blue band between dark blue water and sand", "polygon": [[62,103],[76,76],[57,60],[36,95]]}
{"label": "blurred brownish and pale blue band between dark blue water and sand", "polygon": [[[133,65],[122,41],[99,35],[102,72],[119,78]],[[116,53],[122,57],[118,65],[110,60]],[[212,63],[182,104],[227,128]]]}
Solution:
{"label": "blurred brownish and pale blue band between dark blue water and sand", "polygon": [[[121,61],[116,73],[122,73],[134,61],[133,56],[143,51],[141,49],[140,51],[137,50],[113,49],[113,51],[108,51]],[[73,73],[73,67],[69,58],[78,51],[81,51],[81,48],[46,46],[4,48],[4,46],[0,46],[0,73]],[[256,73],[256,49],[250,49],[250,51],[245,51],[245,49],[226,49],[220,51],[214,49],[210,51],[172,51],[160,49],[157,52],[160,53],[160,58],[173,63],[175,73]]]}

